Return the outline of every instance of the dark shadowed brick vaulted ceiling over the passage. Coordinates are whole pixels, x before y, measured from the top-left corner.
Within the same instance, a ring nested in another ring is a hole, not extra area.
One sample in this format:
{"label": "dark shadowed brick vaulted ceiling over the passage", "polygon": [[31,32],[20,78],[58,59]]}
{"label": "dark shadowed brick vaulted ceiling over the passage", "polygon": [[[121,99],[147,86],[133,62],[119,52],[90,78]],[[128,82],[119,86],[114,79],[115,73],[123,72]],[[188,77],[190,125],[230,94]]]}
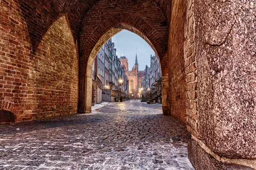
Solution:
{"label": "dark shadowed brick vaulted ceiling over the passage", "polygon": [[[100,15],[102,15],[102,13],[105,12],[111,13],[113,9],[116,9],[117,4],[122,4],[120,5],[121,8],[118,9],[119,12],[130,13],[134,10],[137,14],[140,14],[138,17],[145,14],[146,17],[143,18],[144,20],[151,20],[152,17],[156,18],[157,12],[157,15],[161,17],[161,21],[159,20],[159,22],[162,22],[162,25],[165,24],[168,26],[167,23],[169,20],[167,16],[170,15],[171,2],[169,0],[145,0],[145,3],[148,4],[148,1],[151,1],[151,3],[149,3],[151,5],[147,6],[146,8],[148,10],[145,11],[141,10],[141,0],[14,0],[17,6],[19,6],[20,13],[27,23],[33,51],[36,50],[41,38],[52,23],[63,15],[66,15],[70,23],[70,28],[73,32],[74,40],[76,41],[79,38],[84,18],[88,15],[93,16],[96,14],[96,6],[106,7],[105,11],[98,11],[101,12]],[[131,4],[132,6],[136,6],[137,4],[137,8],[127,10]],[[135,14],[134,11],[133,14]],[[149,16],[150,14],[151,16]],[[163,21],[163,17],[165,21]],[[93,22],[98,21],[99,20],[96,21],[93,19]],[[154,22],[157,21],[155,20]],[[148,22],[148,24],[154,23]]]}

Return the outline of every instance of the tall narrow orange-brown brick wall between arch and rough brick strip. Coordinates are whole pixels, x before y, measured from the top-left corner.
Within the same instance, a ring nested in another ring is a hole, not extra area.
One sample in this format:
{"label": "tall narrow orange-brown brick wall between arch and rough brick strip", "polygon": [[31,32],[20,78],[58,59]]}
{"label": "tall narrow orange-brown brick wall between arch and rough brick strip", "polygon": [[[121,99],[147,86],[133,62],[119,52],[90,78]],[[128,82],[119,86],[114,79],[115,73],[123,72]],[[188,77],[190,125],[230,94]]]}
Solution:
{"label": "tall narrow orange-brown brick wall between arch and rough brick strip", "polygon": [[171,115],[186,124],[186,74],[183,42],[186,20],[186,1],[172,1],[172,15],[169,31],[169,87]]}

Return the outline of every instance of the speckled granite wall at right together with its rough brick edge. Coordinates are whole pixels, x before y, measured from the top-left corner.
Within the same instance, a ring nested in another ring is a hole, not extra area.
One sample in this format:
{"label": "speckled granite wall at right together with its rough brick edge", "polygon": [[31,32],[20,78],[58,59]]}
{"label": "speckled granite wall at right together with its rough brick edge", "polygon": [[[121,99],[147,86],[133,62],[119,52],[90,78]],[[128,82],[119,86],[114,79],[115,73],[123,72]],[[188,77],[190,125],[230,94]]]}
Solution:
{"label": "speckled granite wall at right together with its rough brick edge", "polygon": [[255,7],[249,0],[187,3],[188,150],[197,170],[256,169]]}

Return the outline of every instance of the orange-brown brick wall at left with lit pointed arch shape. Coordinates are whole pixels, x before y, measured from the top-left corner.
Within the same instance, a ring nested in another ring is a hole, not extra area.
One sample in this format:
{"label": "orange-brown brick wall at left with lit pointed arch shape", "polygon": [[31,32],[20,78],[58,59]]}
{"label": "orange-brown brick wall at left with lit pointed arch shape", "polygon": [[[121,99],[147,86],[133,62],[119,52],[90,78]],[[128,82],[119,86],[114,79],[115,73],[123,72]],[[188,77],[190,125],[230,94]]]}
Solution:
{"label": "orange-brown brick wall at left with lit pointed arch shape", "polygon": [[41,31],[37,19],[47,18],[31,18],[29,2],[0,0],[0,109],[16,121],[76,113],[78,53],[70,24],[66,16],[45,16],[49,4],[34,3],[33,14],[49,21]]}

